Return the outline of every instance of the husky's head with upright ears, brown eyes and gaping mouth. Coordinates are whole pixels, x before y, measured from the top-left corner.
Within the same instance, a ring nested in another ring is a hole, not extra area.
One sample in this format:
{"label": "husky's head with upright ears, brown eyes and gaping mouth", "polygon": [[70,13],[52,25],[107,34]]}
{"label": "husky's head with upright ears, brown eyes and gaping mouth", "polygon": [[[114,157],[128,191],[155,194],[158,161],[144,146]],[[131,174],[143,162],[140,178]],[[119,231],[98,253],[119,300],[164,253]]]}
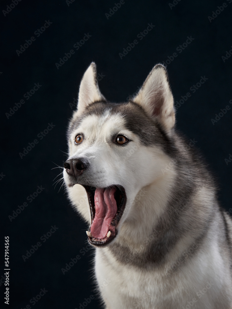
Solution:
{"label": "husky's head with upright ears, brown eyes and gaping mouth", "polygon": [[72,203],[89,225],[90,243],[107,245],[123,224],[135,220],[136,196],[161,180],[170,162],[174,123],[164,66],[156,65],[138,94],[120,104],[107,102],[95,63],[88,67],[69,123],[63,175]]}

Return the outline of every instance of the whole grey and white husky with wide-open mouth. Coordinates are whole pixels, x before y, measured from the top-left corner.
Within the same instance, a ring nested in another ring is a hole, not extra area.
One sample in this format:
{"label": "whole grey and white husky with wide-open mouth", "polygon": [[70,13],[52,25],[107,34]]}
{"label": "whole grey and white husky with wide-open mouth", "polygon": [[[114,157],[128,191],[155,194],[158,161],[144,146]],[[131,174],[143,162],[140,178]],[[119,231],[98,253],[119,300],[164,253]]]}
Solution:
{"label": "whole grey and white husky with wide-open mouth", "polygon": [[63,176],[107,309],[232,308],[232,220],[174,126],[161,64],[124,103],[101,94],[95,63],[84,73]]}

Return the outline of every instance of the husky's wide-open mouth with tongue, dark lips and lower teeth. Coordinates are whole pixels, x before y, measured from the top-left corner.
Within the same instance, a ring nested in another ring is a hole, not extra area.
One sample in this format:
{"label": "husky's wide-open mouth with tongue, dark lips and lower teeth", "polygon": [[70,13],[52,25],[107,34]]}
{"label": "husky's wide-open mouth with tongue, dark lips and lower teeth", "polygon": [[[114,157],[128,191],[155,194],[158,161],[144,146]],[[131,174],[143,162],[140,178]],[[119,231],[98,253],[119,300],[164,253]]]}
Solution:
{"label": "husky's wide-open mouth with tongue, dark lips and lower teeth", "polygon": [[118,185],[107,188],[84,186],[91,212],[88,240],[95,246],[104,246],[117,235],[117,225],[126,204],[125,189]]}

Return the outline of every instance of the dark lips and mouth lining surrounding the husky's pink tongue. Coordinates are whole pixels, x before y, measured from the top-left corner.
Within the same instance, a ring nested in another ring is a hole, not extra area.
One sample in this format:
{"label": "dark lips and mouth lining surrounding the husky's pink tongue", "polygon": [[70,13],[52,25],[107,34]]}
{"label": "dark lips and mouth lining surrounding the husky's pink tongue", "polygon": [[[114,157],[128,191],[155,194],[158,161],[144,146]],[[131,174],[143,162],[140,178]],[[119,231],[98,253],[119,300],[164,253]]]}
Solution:
{"label": "dark lips and mouth lining surrounding the husky's pink tongue", "polygon": [[[85,188],[85,191],[86,191],[87,196],[88,196],[88,203],[89,203],[90,213],[91,213],[91,225],[92,225],[93,219],[95,217],[94,193],[95,193],[96,188],[88,186],[88,185],[83,185],[83,187]],[[120,219],[122,217],[122,214],[123,214],[123,211],[124,211],[125,205],[126,205],[127,197],[126,197],[125,189],[120,185],[111,185],[107,188],[111,188],[111,187],[114,187],[114,188],[117,189],[117,191],[115,192],[115,194],[116,194],[115,199],[117,201],[118,211],[117,211],[115,218],[110,223],[109,231],[111,232],[111,235],[110,235],[109,238],[105,237],[104,239],[100,240],[100,239],[91,238],[91,237],[88,236],[88,241],[92,245],[97,246],[97,247],[103,247],[103,246],[109,244],[117,236],[117,234],[118,234],[117,225],[118,225],[118,222],[120,221]],[[111,227],[114,227],[114,229],[111,229]],[[89,232],[90,232],[90,228],[91,228],[91,226],[89,227]]]}

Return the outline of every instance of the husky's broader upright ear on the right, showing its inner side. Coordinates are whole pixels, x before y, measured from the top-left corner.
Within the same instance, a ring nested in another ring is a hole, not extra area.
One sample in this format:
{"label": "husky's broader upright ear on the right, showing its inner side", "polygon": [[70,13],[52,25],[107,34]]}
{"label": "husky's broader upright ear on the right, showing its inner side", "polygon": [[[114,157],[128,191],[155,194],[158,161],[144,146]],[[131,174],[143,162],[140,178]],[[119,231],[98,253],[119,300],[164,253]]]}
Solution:
{"label": "husky's broader upright ear on the right, showing its inner side", "polygon": [[146,78],[133,101],[140,104],[152,117],[156,117],[166,132],[175,124],[172,92],[165,67],[157,64]]}

